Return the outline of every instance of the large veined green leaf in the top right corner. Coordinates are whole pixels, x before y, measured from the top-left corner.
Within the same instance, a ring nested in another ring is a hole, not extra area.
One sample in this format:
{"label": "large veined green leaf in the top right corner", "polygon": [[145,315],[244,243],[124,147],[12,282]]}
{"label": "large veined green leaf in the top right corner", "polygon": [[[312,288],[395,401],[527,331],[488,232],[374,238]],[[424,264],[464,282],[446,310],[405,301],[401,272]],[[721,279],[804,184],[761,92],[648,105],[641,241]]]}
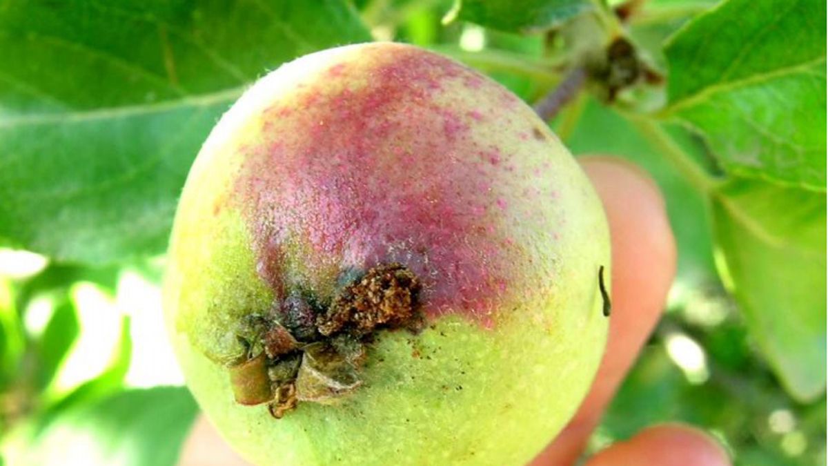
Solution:
{"label": "large veined green leaf in the top right corner", "polygon": [[667,44],[667,115],[728,172],[824,192],[825,0],[730,0]]}

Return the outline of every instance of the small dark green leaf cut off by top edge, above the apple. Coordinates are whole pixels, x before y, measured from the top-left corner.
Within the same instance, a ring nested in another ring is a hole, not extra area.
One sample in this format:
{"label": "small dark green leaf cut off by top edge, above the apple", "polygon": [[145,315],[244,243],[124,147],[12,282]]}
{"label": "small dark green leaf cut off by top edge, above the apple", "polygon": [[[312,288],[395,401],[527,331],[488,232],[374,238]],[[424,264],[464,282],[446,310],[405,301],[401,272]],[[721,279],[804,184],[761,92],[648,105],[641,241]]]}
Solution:
{"label": "small dark green leaf cut off by top edge, above the apple", "polygon": [[593,7],[590,0],[457,0],[449,15],[505,32],[542,32]]}

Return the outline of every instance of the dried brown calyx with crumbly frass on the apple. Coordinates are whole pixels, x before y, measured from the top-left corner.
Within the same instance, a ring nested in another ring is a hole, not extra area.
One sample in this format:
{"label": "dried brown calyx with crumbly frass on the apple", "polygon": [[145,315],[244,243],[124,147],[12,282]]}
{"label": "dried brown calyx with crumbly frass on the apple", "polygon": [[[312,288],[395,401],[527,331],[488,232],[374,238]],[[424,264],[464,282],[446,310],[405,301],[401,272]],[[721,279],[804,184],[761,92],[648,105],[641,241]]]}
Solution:
{"label": "dried brown calyx with crumbly frass on the apple", "polygon": [[277,419],[299,401],[330,403],[360,385],[373,333],[421,327],[420,283],[404,265],[378,265],[348,281],[330,303],[296,293],[243,320],[237,335],[246,351],[230,366],[238,403],[267,403]]}

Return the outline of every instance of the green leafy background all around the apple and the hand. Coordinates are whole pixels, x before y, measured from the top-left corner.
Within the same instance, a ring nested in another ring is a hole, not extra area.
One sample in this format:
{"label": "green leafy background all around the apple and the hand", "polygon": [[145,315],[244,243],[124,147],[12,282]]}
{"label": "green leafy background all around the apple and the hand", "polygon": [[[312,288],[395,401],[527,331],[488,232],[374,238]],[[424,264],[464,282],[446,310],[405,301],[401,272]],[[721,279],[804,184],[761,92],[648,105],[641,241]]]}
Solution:
{"label": "green leafy background all around the apple and the hand", "polygon": [[[530,104],[585,68],[551,126],[662,187],[678,277],[590,452],[680,421],[735,464],[826,464],[825,3],[752,3],[0,1],[5,464],[175,464],[198,408],[159,284],[186,171],[256,77],[372,39],[440,51]],[[694,41],[725,20],[732,50],[706,46],[732,52],[717,70]],[[617,64],[600,53],[618,36],[638,79],[610,99],[599,71]],[[710,101],[676,104],[694,86]],[[745,108],[749,125],[729,119]]]}

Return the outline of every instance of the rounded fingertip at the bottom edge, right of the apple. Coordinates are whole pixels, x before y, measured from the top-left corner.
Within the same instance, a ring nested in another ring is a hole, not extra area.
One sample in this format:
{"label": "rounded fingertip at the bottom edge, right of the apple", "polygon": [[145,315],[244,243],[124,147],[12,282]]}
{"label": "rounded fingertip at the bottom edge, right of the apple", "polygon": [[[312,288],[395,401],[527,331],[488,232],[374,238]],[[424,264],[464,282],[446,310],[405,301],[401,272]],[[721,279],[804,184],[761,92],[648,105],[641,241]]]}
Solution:
{"label": "rounded fingertip at the bottom edge, right of the apple", "polygon": [[596,454],[587,466],[729,466],[724,448],[702,430],[657,425]]}

